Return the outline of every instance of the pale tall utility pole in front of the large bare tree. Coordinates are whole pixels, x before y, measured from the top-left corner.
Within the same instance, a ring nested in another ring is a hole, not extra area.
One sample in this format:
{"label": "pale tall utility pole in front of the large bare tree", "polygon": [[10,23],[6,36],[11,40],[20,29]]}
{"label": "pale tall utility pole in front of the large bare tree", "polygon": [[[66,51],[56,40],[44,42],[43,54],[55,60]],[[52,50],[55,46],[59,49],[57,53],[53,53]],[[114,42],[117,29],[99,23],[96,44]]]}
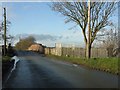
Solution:
{"label": "pale tall utility pole in front of the large bare tree", "polygon": [[88,41],[87,41],[87,58],[90,58],[91,50],[90,50],[90,0],[88,0]]}

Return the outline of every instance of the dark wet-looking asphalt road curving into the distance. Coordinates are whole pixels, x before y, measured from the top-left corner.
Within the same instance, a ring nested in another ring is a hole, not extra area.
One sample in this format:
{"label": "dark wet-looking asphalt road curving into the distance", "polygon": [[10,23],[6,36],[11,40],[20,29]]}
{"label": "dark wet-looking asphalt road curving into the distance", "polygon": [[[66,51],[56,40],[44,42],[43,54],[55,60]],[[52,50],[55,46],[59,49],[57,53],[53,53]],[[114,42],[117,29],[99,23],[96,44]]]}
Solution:
{"label": "dark wet-looking asphalt road curving into the distance", "polygon": [[118,76],[19,52],[20,61],[4,88],[117,88]]}

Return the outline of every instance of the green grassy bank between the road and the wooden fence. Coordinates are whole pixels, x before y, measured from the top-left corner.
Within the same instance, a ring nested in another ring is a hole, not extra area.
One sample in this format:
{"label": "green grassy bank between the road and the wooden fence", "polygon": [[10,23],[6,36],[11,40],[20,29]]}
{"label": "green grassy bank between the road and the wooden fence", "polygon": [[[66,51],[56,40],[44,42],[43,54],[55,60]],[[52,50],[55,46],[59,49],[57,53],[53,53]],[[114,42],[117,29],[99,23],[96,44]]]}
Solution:
{"label": "green grassy bank between the road and the wooden fence", "polygon": [[118,63],[118,58],[91,58],[90,60],[86,60],[85,58],[54,55],[47,55],[47,57],[54,58],[55,60],[63,60],[74,64],[83,65],[88,68],[102,70],[113,74],[120,74],[118,71],[118,66],[120,66],[120,63]]}

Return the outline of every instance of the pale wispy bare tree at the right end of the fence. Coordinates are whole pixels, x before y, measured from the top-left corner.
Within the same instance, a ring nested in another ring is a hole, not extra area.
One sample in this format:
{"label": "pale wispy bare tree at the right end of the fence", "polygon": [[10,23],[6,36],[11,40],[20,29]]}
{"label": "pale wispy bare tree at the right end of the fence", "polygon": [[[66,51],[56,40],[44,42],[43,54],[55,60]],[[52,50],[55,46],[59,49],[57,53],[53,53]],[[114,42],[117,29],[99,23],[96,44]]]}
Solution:
{"label": "pale wispy bare tree at the right end of the fence", "polygon": [[112,28],[110,30],[106,30],[104,32],[104,38],[101,39],[103,41],[103,47],[108,51],[108,57],[117,56],[119,53],[119,46],[118,46],[118,29]]}

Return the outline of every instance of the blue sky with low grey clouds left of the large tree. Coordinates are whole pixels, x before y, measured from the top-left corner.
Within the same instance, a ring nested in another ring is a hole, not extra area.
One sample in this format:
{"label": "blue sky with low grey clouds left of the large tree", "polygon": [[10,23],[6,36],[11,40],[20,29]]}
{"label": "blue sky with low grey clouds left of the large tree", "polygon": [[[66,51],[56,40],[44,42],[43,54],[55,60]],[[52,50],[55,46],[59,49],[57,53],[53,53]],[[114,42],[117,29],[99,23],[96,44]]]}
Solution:
{"label": "blue sky with low grey clouds left of the large tree", "polygon": [[74,23],[65,24],[65,18],[52,11],[51,2],[6,2],[7,19],[11,21],[8,33],[16,43],[20,38],[33,35],[38,43],[54,46],[55,43],[84,46],[80,28]]}

